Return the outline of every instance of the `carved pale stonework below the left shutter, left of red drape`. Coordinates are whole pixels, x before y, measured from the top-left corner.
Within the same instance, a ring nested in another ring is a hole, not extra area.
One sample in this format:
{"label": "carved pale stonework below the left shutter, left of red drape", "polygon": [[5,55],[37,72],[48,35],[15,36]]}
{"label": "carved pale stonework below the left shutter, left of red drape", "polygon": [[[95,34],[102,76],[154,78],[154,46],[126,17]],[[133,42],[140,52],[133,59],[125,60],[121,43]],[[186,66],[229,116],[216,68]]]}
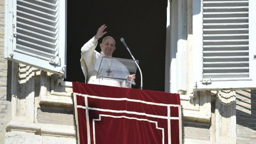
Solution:
{"label": "carved pale stonework below the left shutter, left of red drape", "polygon": [[76,143],[72,88],[59,75],[24,64],[12,65],[12,118],[4,143]]}

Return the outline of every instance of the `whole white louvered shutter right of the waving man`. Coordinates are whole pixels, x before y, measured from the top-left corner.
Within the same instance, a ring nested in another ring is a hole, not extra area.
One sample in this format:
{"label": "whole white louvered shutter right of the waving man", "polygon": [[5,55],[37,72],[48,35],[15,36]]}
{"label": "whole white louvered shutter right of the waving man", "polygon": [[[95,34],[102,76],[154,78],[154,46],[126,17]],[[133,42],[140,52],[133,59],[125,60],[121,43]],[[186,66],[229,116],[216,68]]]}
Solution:
{"label": "whole white louvered shutter right of the waving man", "polygon": [[198,16],[202,19],[202,42],[197,47],[201,50],[194,51],[202,53],[200,59],[194,59],[201,68],[194,74],[197,79],[195,88],[256,87],[255,45],[252,43],[255,35],[252,19],[255,16],[249,10],[252,9],[252,1],[202,0],[201,17]]}

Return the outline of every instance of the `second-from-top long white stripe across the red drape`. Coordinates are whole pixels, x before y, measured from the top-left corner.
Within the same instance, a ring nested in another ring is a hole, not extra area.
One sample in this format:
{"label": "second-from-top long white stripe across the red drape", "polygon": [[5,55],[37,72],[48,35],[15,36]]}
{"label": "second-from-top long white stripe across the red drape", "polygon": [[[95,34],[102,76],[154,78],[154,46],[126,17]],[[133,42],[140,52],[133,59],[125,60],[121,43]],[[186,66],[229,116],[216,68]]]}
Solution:
{"label": "second-from-top long white stripe across the red drape", "polygon": [[[82,105],[77,105],[77,107],[82,108],[82,109],[87,109],[87,107],[82,106]],[[96,110],[96,111],[112,112],[112,113],[127,113],[127,114],[135,114],[135,115],[144,115],[144,116],[148,116],[148,117],[162,118],[162,119],[168,119],[168,118],[169,119],[179,119],[179,117],[170,117],[170,116],[167,117],[167,116],[151,115],[151,114],[131,112],[131,111],[118,111],[118,110],[99,109],[99,108],[93,108],[93,107],[88,107],[88,110]]]}

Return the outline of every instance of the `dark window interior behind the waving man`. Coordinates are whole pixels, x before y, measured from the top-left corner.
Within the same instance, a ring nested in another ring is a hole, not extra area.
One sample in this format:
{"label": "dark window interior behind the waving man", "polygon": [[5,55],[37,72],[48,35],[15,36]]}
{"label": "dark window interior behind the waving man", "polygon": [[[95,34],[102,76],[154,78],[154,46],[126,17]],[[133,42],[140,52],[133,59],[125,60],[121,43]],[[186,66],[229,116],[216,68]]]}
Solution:
{"label": "dark window interior behind the waving man", "polygon": [[[98,28],[108,26],[105,36],[116,40],[113,57],[132,59],[124,38],[143,74],[143,89],[164,91],[167,0],[68,0],[67,10],[67,79],[84,82],[80,65],[81,47]],[[102,38],[99,39],[101,43]],[[96,51],[100,52],[99,44]],[[140,86],[140,72],[136,73]]]}

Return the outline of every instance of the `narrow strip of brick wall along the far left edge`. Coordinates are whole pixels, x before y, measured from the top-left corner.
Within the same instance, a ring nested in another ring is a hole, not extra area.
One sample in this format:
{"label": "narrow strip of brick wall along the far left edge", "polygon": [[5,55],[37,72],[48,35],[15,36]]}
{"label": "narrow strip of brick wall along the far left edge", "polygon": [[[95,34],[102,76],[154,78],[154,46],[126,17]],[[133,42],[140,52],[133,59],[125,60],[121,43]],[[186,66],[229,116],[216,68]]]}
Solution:
{"label": "narrow strip of brick wall along the far left edge", "polygon": [[11,119],[11,62],[3,58],[3,53],[4,0],[0,0],[0,144],[4,142],[4,136],[6,132],[5,126],[9,123]]}

